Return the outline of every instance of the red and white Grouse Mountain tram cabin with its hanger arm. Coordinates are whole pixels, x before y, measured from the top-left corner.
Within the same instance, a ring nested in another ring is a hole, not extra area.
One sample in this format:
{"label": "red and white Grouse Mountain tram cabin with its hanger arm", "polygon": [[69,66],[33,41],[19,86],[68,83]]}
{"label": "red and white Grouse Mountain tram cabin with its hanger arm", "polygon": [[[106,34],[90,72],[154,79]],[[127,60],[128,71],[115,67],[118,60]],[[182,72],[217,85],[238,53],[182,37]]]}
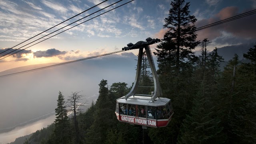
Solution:
{"label": "red and white Grouse Mountain tram cabin with its hanger arm", "polygon": [[[138,64],[135,82],[128,94],[116,99],[116,118],[120,122],[141,125],[147,127],[165,127],[170,122],[173,115],[171,100],[162,98],[160,83],[156,74],[156,68],[150,52],[150,44],[160,42],[159,39],[147,38],[146,42],[140,41],[136,44],[129,43],[123,50],[139,49]],[[145,48],[149,65],[154,81],[154,92],[151,94],[136,94],[139,87],[140,71],[142,67],[142,55]]]}

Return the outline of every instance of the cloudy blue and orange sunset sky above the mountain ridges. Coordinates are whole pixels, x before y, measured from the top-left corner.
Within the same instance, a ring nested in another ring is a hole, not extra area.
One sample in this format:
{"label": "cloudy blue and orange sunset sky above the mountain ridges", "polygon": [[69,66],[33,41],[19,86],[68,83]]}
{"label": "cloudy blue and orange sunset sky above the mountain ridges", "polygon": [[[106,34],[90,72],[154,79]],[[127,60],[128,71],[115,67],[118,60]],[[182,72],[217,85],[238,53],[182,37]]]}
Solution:
{"label": "cloudy blue and orange sunset sky above the mountain ridges", "polygon": [[[102,1],[0,0],[0,52],[24,42]],[[114,2],[117,0],[109,0],[28,42],[14,47],[12,50],[50,34]],[[123,0],[75,24],[84,22],[125,2],[128,0]],[[164,19],[168,17],[170,2],[171,0],[134,0],[39,44],[29,48],[27,47],[31,44],[22,47],[26,50],[0,60],[0,71],[31,64],[77,60],[121,50],[130,42],[145,41],[148,37],[163,38],[163,34],[166,32],[166,29],[163,29]],[[190,1],[186,0],[185,2]],[[191,0],[189,10],[190,14],[198,19],[196,26],[200,27],[254,9],[256,9],[256,0]],[[214,47],[255,42],[255,21],[256,14],[200,30],[197,32],[197,40],[208,38],[212,41],[209,50]],[[74,24],[62,29],[62,31],[71,26]],[[45,38],[50,36],[52,35]],[[152,51],[155,47],[156,44],[152,46]],[[196,48],[196,50],[200,50],[200,48]],[[132,52],[138,53],[136,50]]]}

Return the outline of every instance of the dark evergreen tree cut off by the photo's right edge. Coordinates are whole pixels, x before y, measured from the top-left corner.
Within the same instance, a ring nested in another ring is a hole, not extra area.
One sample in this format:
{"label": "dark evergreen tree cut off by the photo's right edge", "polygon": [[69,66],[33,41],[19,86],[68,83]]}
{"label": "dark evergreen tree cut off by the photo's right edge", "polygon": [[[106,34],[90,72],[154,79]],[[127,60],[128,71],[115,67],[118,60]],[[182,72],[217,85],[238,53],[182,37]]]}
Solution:
{"label": "dark evergreen tree cut off by the photo's right edge", "polygon": [[[256,143],[256,46],[250,48],[244,58],[247,64],[238,66],[232,79],[232,101],[228,115],[229,137],[232,143]],[[236,63],[234,63],[236,64]]]}

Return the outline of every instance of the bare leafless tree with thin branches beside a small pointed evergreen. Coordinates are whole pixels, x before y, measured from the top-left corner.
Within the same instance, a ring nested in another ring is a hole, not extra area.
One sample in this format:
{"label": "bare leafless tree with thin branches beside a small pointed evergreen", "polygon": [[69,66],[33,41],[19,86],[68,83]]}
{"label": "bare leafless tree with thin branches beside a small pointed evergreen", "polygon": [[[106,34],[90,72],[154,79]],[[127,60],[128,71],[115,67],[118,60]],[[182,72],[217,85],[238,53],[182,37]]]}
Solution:
{"label": "bare leafless tree with thin branches beside a small pointed evergreen", "polygon": [[[72,92],[71,96],[69,96],[67,100],[67,106],[68,111],[73,113],[73,121],[74,121],[74,131],[75,131],[75,144],[81,143],[80,139],[80,132],[78,128],[78,121],[76,119],[76,116],[79,112],[81,112],[80,107],[84,106],[87,103],[87,100],[85,100],[83,95],[79,94],[80,92]],[[82,103],[81,101],[84,100]]]}

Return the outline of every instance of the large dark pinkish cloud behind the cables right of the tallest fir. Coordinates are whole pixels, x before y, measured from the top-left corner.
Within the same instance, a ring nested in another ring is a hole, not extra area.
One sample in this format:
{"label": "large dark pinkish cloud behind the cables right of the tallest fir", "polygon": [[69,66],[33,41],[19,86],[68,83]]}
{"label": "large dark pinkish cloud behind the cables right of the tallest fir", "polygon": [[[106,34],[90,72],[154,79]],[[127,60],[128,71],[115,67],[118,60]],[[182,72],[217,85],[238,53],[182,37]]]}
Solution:
{"label": "large dark pinkish cloud behind the cables right of the tallest fir", "polygon": [[[226,7],[220,10],[220,12],[212,18],[199,20],[198,22],[196,22],[196,26],[197,27],[204,26],[207,24],[218,22],[220,20],[224,20],[232,16],[236,16],[238,14],[240,13],[238,12],[237,7],[235,6]],[[236,38],[256,39],[255,23],[256,23],[255,14],[246,16],[244,18],[233,20],[231,22],[226,22],[224,24],[220,24],[217,26],[206,28],[204,30],[200,30],[196,32],[198,34],[197,39],[203,40],[204,38],[208,38],[208,40],[214,40],[215,38],[223,36],[223,32],[229,33]]]}

